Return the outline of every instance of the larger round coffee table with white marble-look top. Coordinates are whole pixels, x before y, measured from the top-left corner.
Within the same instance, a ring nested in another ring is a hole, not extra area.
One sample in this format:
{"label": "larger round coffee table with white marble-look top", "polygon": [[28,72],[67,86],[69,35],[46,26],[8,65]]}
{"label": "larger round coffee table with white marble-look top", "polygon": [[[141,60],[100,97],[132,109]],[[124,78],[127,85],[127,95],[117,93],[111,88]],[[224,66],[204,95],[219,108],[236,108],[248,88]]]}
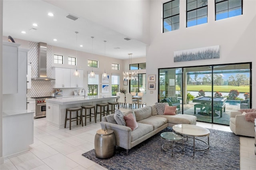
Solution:
{"label": "larger round coffee table with white marble-look top", "polygon": [[[182,134],[186,137],[189,136],[189,137],[193,138],[193,152],[194,152],[194,155],[195,155],[196,151],[209,149],[210,131],[208,129],[203,128],[203,127],[199,127],[199,126],[196,126],[196,125],[179,124],[179,125],[174,125],[172,127],[172,130],[174,132],[178,133],[178,134]],[[208,142],[205,142],[204,140],[200,140],[198,138],[195,138],[195,137],[200,137],[200,136],[207,136],[208,137]],[[206,143],[207,147],[202,148],[202,149],[196,149],[195,148],[195,139]]]}

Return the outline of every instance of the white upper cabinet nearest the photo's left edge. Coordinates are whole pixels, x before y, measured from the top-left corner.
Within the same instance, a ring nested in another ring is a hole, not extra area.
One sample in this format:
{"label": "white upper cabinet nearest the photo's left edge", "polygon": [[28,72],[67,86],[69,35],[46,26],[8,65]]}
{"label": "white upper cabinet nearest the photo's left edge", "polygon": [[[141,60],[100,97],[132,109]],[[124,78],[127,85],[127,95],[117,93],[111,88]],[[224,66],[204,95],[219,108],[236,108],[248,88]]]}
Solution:
{"label": "white upper cabinet nearest the photo's left edge", "polygon": [[18,46],[3,42],[3,94],[18,93]]}

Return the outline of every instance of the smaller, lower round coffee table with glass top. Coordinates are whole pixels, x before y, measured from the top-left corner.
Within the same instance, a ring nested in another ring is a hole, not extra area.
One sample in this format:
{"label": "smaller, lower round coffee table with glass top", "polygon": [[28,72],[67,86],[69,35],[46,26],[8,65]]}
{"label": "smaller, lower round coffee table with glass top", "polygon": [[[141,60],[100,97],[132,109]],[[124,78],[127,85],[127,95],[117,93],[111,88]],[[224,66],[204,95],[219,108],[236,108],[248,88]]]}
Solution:
{"label": "smaller, lower round coffee table with glass top", "polygon": [[[183,136],[179,135],[179,134],[176,134],[174,132],[163,132],[160,134],[160,136],[164,139],[164,140],[168,140],[170,141],[171,143],[169,144],[163,144],[161,146],[161,148],[163,150],[165,150],[166,152],[171,152],[172,153],[172,156],[173,156],[173,153],[176,153],[173,151],[173,147],[174,146],[178,146],[181,150],[180,151],[177,151],[177,152],[183,152],[184,151],[184,145],[183,145]],[[178,144],[173,144],[173,142],[176,142],[176,141],[181,141],[182,143],[182,146],[178,145]],[[167,150],[166,148],[164,148],[164,146],[167,146],[167,145],[170,145],[171,146],[171,151],[170,150]]]}

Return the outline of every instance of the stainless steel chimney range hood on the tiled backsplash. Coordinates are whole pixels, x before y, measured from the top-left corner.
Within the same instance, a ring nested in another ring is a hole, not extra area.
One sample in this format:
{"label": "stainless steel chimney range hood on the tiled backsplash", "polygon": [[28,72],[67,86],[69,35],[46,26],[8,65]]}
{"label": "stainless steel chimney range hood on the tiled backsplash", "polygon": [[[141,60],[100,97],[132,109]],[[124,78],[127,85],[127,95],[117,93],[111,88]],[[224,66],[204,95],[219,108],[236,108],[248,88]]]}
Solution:
{"label": "stainless steel chimney range hood on the tiled backsplash", "polygon": [[32,78],[32,80],[55,80],[47,77],[46,65],[47,65],[47,44],[43,42],[38,43],[38,77]]}

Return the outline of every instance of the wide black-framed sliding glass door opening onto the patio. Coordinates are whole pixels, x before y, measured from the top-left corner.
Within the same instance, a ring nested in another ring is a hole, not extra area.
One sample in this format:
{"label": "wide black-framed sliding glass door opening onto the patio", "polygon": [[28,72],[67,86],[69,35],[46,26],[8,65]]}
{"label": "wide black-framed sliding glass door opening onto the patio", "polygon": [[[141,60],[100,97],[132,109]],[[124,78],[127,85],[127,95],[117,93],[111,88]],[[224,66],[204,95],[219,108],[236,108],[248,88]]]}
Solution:
{"label": "wide black-framed sliding glass door opening onto the patio", "polygon": [[[251,63],[159,69],[159,102],[178,99],[178,113],[229,125],[230,112],[251,108]],[[167,100],[170,98],[170,100]]]}

